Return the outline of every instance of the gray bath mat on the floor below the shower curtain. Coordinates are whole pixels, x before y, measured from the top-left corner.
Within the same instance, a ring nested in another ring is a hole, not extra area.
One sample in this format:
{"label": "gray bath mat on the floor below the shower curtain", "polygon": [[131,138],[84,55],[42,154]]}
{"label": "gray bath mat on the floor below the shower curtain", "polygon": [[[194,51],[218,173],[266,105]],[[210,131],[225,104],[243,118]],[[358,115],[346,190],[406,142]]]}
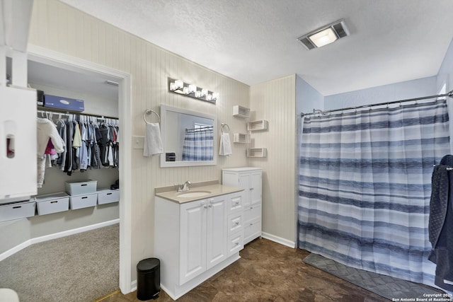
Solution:
{"label": "gray bath mat on the floor below the shower curtain", "polygon": [[317,254],[306,256],[304,262],[390,300],[414,298],[413,301],[415,301],[416,298],[426,298],[423,294],[443,293],[424,284],[415,284],[411,281],[348,267]]}

